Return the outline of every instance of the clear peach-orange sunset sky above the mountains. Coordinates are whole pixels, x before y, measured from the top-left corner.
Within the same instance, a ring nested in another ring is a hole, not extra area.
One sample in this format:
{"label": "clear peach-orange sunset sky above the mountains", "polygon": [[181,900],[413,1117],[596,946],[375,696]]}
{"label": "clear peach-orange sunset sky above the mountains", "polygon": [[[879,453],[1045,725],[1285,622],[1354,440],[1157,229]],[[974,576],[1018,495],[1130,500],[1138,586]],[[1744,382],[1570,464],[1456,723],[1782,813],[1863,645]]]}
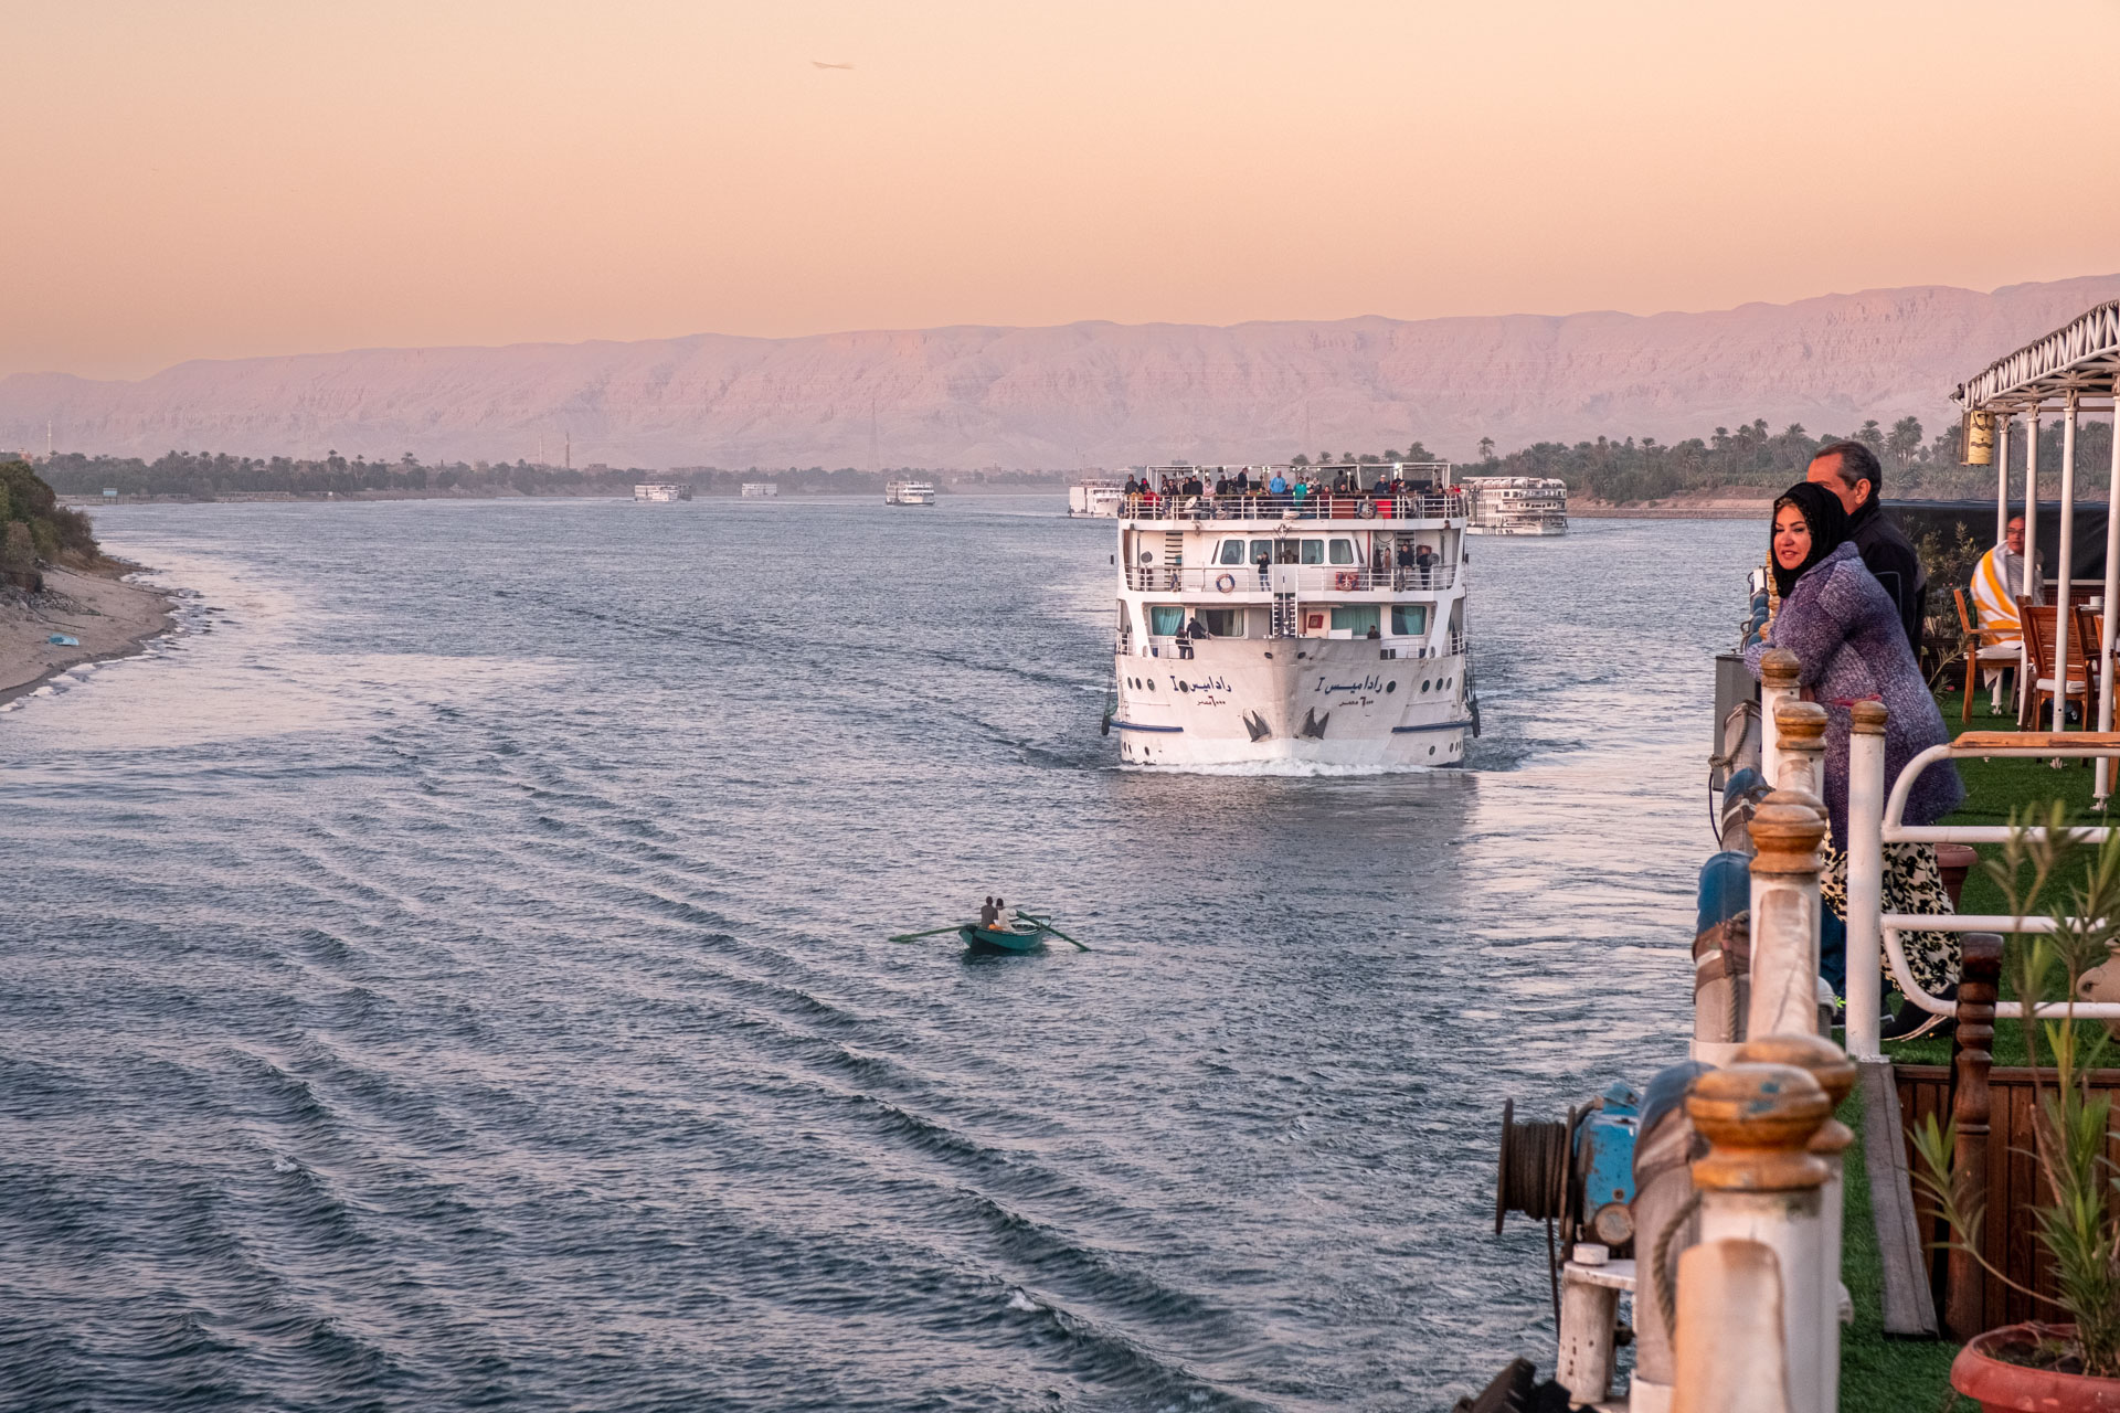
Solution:
{"label": "clear peach-orange sunset sky above the mountains", "polygon": [[11,0],[0,373],[2120,271],[2120,0],[2006,13]]}

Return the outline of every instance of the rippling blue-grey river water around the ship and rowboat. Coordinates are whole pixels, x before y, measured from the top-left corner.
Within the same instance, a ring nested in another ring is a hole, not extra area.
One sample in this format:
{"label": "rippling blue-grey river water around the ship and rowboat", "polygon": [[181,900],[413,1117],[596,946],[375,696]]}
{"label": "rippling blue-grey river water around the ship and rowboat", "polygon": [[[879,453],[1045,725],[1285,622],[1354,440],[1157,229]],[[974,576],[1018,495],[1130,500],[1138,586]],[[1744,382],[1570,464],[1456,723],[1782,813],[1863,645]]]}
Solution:
{"label": "rippling blue-grey river water around the ship and rowboat", "polygon": [[[1121,771],[1058,498],[117,506],[0,714],[0,1407],[1442,1409],[1683,1057],[1749,523],[1480,540],[1467,769]],[[893,945],[988,892],[1092,951]]]}

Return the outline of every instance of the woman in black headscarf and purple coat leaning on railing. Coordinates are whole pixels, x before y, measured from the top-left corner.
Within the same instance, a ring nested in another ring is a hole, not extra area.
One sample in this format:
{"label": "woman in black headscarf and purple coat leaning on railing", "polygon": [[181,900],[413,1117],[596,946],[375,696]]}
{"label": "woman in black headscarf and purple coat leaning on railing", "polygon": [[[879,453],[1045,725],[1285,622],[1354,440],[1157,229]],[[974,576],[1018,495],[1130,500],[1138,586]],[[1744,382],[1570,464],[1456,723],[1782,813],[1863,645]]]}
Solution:
{"label": "woman in black headscarf and purple coat leaning on railing", "polygon": [[[1929,746],[1950,739],[1936,697],[1914,663],[1891,595],[1863,568],[1847,511],[1830,487],[1804,481],[1774,502],[1768,540],[1781,612],[1764,640],[1745,648],[1745,667],[1760,676],[1768,648],[1787,648],[1798,661],[1804,697],[1825,708],[1825,818],[1832,837],[1819,892],[1836,917],[1847,917],[1849,847],[1849,727],[1857,701],[1883,701],[1885,780]],[[1959,769],[1938,761],[1914,782],[1906,801],[1906,824],[1936,824],[1959,807],[1965,786]],[[1885,845],[1885,911],[1950,913],[1933,843]],[[1959,938],[1953,932],[1902,932],[1906,964],[1931,996],[1948,996],[1959,981]],[[1844,991],[1847,955],[1823,958],[1821,966],[1836,991]],[[1887,1040],[1921,1034],[1929,1013],[1904,1006],[1885,1025]]]}

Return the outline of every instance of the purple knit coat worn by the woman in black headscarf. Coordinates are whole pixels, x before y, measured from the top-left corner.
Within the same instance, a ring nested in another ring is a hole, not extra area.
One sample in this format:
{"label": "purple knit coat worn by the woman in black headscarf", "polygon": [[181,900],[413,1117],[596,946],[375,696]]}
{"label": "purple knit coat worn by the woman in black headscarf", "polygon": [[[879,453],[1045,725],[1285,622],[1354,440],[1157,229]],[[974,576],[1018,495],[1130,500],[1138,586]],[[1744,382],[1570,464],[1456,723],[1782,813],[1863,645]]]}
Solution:
{"label": "purple knit coat worn by the woman in black headscarf", "polygon": [[[1766,642],[1745,648],[1745,667],[1760,676],[1760,655],[1787,648],[1802,665],[1800,682],[1825,708],[1825,816],[1834,847],[1849,847],[1849,722],[1857,701],[1883,701],[1885,792],[1906,763],[1950,739],[1929,684],[1921,680],[1906,627],[1885,585],[1861,564],[1855,542],[1804,570],[1781,602]],[[1959,807],[1965,786],[1959,767],[1938,761],[1914,782],[1902,824],[1936,824]]]}

